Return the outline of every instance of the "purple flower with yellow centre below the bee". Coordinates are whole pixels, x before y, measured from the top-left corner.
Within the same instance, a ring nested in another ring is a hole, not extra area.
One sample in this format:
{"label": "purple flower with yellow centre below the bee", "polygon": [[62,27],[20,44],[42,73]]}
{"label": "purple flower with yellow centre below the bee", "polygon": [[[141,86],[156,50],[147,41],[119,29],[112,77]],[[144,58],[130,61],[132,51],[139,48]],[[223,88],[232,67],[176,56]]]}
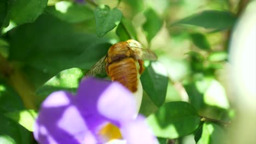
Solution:
{"label": "purple flower with yellow centre below the bee", "polygon": [[34,137],[41,144],[157,143],[133,94],[118,82],[87,78],[77,95],[51,93],[41,105]]}

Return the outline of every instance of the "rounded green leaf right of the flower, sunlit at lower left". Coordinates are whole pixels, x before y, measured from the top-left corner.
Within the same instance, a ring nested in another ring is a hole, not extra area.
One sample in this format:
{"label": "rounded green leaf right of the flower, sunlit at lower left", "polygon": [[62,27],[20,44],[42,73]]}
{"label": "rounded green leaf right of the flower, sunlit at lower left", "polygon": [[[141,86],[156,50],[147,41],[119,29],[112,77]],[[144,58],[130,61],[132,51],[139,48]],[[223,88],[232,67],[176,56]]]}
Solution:
{"label": "rounded green leaf right of the flower, sunlit at lower left", "polygon": [[147,121],[156,136],[176,139],[193,133],[199,127],[200,116],[189,103],[172,101],[162,105]]}

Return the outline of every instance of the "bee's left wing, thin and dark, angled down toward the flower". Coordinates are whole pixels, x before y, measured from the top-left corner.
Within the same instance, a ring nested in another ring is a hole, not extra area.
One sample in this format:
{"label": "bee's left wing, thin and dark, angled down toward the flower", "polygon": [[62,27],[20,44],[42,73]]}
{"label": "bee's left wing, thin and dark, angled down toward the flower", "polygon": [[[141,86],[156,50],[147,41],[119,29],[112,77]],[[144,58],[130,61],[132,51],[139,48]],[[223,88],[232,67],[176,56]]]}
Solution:
{"label": "bee's left wing, thin and dark, angled down toward the flower", "polygon": [[90,70],[86,72],[85,76],[95,76],[97,74],[103,73],[105,71],[106,58],[107,58],[107,55],[103,56],[96,64],[94,64],[91,67]]}

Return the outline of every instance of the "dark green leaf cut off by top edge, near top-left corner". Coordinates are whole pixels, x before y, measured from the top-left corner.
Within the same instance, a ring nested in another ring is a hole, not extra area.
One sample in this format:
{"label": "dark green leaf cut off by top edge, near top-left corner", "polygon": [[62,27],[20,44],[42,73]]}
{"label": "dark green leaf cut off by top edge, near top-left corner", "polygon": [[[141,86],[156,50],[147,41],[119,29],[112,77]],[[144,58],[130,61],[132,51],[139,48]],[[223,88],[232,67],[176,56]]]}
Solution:
{"label": "dark green leaf cut off by top edge, near top-left corner", "polygon": [[47,0],[9,0],[8,9],[10,20],[16,25],[34,22],[43,14]]}

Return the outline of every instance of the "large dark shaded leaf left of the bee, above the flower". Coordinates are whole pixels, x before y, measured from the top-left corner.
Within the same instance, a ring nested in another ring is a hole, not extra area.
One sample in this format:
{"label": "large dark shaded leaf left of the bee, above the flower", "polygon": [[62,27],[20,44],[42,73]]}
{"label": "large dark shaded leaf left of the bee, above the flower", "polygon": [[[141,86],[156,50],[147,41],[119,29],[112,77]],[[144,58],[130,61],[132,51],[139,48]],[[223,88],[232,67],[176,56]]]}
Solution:
{"label": "large dark shaded leaf left of the bee, above the flower", "polygon": [[107,39],[77,32],[71,24],[50,15],[13,29],[9,39],[10,61],[22,63],[36,88],[61,70],[90,69],[110,47]]}

